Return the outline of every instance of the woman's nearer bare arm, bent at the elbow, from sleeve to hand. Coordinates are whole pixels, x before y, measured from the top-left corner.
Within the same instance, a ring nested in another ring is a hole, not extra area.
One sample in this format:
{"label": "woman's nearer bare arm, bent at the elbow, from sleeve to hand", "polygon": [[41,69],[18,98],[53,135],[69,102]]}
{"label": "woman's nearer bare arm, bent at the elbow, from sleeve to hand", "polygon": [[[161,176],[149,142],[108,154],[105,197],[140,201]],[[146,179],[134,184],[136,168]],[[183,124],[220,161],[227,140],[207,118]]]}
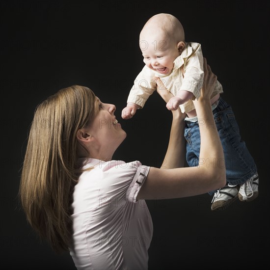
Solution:
{"label": "woman's nearer bare arm, bent at the elbow, from sleeve to hand", "polygon": [[200,127],[201,146],[196,167],[159,169],[151,167],[137,199],[169,199],[194,196],[226,184],[222,145],[216,130],[210,96],[216,76],[204,59],[204,86],[194,101]]}

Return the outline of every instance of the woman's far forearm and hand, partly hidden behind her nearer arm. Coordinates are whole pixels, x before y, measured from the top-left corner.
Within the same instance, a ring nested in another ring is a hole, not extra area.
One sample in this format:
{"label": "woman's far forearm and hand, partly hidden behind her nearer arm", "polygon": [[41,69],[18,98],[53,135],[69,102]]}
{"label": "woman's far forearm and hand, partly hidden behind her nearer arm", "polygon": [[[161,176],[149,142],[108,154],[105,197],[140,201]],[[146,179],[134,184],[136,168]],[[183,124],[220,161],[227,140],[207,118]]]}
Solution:
{"label": "woman's far forearm and hand, partly hidden behind her nearer arm", "polygon": [[[157,82],[157,92],[167,103],[173,94],[169,92],[162,83],[160,78],[154,78]],[[184,167],[186,159],[186,140],[184,137],[185,114],[181,109],[172,111],[172,124],[167,152],[165,154],[162,168],[173,169]]]}

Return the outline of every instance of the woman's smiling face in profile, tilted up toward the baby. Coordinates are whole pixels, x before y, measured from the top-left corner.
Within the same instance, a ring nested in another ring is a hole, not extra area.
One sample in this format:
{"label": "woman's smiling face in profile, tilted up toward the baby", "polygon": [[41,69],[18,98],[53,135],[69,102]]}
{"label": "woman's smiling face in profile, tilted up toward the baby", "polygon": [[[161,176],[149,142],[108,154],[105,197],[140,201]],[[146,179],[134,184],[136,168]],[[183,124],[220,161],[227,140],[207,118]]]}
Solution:
{"label": "woman's smiling face in profile, tilted up toward the baby", "polygon": [[[115,118],[115,106],[102,103],[97,97],[98,113],[91,121],[88,131],[95,138],[95,145],[101,148],[101,152],[114,152],[126,138],[126,132]],[[103,157],[100,157],[103,158]]]}

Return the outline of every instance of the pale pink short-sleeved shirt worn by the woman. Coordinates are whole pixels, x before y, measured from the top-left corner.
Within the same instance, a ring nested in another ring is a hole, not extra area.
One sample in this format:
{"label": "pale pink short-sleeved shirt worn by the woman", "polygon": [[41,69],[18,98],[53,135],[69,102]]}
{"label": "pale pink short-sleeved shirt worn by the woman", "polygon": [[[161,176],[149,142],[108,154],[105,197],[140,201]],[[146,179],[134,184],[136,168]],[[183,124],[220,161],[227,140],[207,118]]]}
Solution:
{"label": "pale pink short-sleeved shirt worn by the woman", "polygon": [[152,218],[136,196],[149,166],[88,159],[73,194],[70,254],[78,270],[148,269]]}

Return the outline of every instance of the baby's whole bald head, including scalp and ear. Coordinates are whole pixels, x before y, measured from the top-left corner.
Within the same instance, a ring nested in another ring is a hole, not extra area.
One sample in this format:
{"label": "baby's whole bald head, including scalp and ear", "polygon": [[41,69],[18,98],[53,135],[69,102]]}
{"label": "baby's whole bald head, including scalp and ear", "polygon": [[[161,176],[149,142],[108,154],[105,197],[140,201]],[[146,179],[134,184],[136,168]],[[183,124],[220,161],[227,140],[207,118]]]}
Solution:
{"label": "baby's whole bald head, including scalp and ear", "polygon": [[144,63],[152,70],[167,75],[185,47],[184,28],[171,14],[154,15],[142,28],[139,45]]}

